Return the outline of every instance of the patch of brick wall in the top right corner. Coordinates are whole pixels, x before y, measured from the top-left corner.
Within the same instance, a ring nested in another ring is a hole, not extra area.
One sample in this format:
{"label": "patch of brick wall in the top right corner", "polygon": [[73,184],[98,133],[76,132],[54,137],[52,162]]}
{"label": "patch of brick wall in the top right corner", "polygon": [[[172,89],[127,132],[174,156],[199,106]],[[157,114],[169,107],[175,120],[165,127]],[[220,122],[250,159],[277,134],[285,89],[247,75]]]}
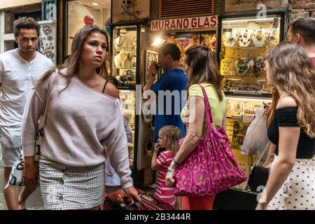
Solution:
{"label": "patch of brick wall in the top right corner", "polygon": [[315,17],[315,0],[289,0],[290,22],[302,17]]}

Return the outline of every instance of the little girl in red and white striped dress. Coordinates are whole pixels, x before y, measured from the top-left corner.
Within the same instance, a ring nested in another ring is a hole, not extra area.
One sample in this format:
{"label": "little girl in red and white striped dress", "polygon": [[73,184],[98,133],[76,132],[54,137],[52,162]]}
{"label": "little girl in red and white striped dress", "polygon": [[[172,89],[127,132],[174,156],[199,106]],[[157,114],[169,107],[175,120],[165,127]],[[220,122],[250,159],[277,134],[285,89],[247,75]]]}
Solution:
{"label": "little girl in red and white striped dress", "polygon": [[[173,125],[167,125],[160,129],[158,144],[154,146],[154,153],[151,162],[151,168],[153,170],[158,169],[158,176],[156,181],[156,190],[155,196],[158,199],[172,204],[175,207],[176,196],[174,195],[173,188],[167,186],[165,180],[167,169],[172,162],[172,159],[179,151],[179,139],[181,138],[181,130],[178,127]],[[162,151],[159,156],[157,156],[160,148],[165,148],[165,151]],[[157,159],[158,158],[158,159]],[[176,206],[176,209],[178,207]]]}

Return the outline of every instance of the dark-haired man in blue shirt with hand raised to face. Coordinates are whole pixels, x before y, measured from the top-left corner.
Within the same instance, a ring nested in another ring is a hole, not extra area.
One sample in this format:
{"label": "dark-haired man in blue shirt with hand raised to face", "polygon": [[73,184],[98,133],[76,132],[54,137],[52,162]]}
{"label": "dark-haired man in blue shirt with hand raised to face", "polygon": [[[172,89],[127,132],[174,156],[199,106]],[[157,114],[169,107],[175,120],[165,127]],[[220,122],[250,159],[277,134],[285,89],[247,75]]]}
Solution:
{"label": "dark-haired man in blue shirt with hand raised to face", "polygon": [[[149,75],[147,83],[144,86],[144,91],[152,90],[158,96],[157,113],[155,115],[155,142],[158,141],[160,128],[165,125],[179,127],[182,137],[186,136],[186,129],[181,121],[180,111],[184,105],[183,100],[186,100],[182,99],[182,91],[186,90],[188,78],[184,71],[180,69],[180,57],[181,50],[179,50],[177,45],[174,43],[166,43],[160,47],[158,52],[158,64],[163,69],[164,73],[162,73],[162,76],[155,84],[153,83],[158,70],[154,63],[151,64],[148,69]],[[168,96],[168,94],[171,96]],[[176,96],[178,97],[177,99]],[[172,99],[171,102],[167,102],[168,99]],[[164,107],[164,110],[159,110],[159,107]]]}

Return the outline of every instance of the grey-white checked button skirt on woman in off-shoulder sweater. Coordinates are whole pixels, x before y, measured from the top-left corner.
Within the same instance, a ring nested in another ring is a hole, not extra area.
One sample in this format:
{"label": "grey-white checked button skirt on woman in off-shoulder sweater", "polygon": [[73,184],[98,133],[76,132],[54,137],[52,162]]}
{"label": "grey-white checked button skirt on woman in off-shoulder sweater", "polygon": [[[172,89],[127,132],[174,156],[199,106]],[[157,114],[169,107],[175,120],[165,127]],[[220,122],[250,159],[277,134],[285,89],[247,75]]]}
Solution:
{"label": "grey-white checked button skirt on woman in off-shoulder sweater", "polygon": [[105,163],[69,167],[39,160],[39,182],[45,209],[92,209],[104,202]]}

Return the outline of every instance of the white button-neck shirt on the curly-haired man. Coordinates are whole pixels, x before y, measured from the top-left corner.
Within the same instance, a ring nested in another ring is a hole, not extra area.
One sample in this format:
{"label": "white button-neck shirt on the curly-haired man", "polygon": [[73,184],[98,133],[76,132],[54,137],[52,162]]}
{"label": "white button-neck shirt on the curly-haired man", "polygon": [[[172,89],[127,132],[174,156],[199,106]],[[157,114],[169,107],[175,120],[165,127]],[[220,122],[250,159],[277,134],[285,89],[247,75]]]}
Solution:
{"label": "white button-neck shirt on the curly-haired man", "polygon": [[18,49],[0,55],[0,126],[18,126],[35,80],[53,63],[48,57],[36,52],[31,62],[23,59]]}

